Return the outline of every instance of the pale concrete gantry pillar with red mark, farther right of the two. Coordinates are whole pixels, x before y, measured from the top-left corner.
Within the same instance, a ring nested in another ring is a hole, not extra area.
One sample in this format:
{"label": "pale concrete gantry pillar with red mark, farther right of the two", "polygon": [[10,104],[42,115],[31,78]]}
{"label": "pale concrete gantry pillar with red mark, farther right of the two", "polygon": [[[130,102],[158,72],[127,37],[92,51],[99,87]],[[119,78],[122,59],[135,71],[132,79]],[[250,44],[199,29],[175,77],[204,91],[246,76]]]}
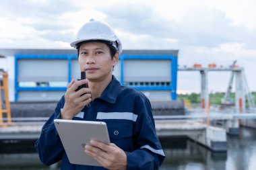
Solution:
{"label": "pale concrete gantry pillar with red mark, farther right of the two", "polygon": [[[243,70],[242,70],[243,71]],[[245,91],[242,71],[236,71],[236,113],[245,112]]]}

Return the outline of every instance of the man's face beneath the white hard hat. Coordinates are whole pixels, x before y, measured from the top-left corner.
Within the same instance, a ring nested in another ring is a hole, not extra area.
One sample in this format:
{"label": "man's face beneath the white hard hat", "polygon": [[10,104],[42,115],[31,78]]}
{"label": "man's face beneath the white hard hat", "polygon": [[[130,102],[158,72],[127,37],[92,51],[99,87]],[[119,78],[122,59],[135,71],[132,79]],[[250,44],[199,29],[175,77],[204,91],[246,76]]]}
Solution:
{"label": "man's face beneath the white hard hat", "polygon": [[111,79],[113,66],[117,65],[118,54],[112,59],[110,49],[101,42],[87,42],[79,48],[79,67],[86,71],[89,81],[102,81]]}

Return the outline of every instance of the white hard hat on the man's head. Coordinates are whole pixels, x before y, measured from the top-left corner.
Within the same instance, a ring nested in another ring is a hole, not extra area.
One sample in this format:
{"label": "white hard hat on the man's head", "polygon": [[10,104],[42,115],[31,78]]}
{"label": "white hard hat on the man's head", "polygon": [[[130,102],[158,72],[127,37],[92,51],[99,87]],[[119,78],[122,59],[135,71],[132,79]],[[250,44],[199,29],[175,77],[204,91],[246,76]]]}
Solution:
{"label": "white hard hat on the man's head", "polygon": [[75,40],[70,45],[71,47],[77,48],[79,42],[92,40],[106,41],[114,46],[119,51],[119,54],[122,52],[122,43],[116,36],[114,30],[105,22],[94,21],[94,19],[90,19],[90,22],[80,28]]}

